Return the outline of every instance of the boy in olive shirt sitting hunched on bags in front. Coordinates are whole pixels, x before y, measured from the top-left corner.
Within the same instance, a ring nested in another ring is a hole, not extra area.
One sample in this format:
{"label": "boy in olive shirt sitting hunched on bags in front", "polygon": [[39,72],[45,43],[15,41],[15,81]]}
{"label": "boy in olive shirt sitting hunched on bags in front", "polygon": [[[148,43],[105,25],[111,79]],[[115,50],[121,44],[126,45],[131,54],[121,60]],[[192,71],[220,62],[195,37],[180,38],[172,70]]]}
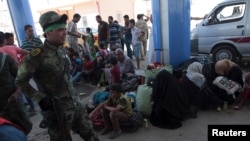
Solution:
{"label": "boy in olive shirt sitting hunched on bags in front", "polygon": [[99,111],[102,113],[105,128],[101,131],[101,135],[107,134],[112,131],[109,137],[113,139],[121,134],[119,121],[129,121],[133,114],[130,101],[121,94],[122,87],[120,84],[112,84],[110,86],[110,97],[104,103],[100,104],[94,111],[89,114],[93,118]]}

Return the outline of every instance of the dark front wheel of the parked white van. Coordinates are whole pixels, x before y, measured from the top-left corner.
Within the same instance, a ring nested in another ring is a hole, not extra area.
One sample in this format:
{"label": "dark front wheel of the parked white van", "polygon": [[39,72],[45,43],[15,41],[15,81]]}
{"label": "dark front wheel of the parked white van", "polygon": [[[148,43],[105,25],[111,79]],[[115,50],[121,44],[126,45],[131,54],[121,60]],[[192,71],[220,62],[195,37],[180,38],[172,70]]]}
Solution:
{"label": "dark front wheel of the parked white van", "polygon": [[222,59],[235,61],[236,57],[237,57],[237,52],[230,45],[220,45],[215,50],[212,51],[212,59],[214,62]]}

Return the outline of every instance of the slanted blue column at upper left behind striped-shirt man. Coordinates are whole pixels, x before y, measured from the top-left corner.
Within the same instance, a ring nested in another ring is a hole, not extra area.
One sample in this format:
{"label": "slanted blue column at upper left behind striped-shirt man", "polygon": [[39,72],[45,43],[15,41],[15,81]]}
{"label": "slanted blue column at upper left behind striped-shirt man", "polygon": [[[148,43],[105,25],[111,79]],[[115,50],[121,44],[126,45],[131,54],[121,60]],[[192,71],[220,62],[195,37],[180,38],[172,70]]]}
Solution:
{"label": "slanted blue column at upper left behind striped-shirt man", "polygon": [[[18,43],[21,45],[22,40],[25,39],[24,26],[30,24],[35,27],[29,0],[7,0],[7,3]],[[36,34],[35,31],[34,33]]]}

